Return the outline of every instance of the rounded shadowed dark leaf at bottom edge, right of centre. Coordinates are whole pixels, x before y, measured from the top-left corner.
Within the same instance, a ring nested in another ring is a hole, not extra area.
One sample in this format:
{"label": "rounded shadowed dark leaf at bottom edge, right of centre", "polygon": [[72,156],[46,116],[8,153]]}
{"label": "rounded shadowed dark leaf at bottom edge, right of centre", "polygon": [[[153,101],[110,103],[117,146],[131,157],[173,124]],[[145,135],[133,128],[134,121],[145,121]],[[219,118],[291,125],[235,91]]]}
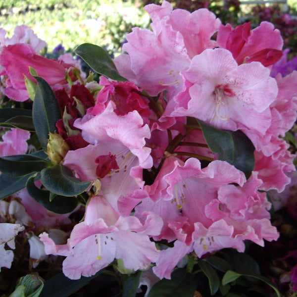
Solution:
{"label": "rounded shadowed dark leaf at bottom edge, right of centre", "polygon": [[171,280],[162,279],[154,284],[148,297],[193,297],[196,282],[192,274],[182,268],[174,270]]}

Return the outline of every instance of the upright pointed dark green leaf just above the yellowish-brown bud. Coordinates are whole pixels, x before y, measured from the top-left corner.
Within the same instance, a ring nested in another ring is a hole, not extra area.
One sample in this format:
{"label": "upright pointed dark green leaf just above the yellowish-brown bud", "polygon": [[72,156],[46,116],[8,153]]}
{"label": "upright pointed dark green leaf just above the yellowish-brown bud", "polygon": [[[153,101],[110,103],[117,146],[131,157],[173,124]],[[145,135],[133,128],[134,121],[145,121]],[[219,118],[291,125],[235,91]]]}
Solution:
{"label": "upright pointed dark green leaf just above the yellowish-brown bud", "polygon": [[41,77],[37,80],[32,115],[36,134],[44,151],[47,151],[49,132],[56,130],[55,123],[61,117],[59,105],[49,84]]}

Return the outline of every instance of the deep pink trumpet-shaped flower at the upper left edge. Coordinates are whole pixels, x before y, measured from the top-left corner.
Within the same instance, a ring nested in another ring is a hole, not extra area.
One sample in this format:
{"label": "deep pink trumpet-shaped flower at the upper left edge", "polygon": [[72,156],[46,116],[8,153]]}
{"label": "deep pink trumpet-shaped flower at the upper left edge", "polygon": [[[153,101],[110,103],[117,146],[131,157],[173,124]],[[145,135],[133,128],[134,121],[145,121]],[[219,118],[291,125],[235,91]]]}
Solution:
{"label": "deep pink trumpet-shaped flower at the upper left edge", "polygon": [[25,101],[29,98],[24,77],[35,80],[29,72],[29,66],[33,67],[49,85],[65,82],[66,69],[57,61],[36,54],[27,44],[4,47],[0,54],[0,65],[3,67],[0,74],[8,76],[4,93],[16,101]]}

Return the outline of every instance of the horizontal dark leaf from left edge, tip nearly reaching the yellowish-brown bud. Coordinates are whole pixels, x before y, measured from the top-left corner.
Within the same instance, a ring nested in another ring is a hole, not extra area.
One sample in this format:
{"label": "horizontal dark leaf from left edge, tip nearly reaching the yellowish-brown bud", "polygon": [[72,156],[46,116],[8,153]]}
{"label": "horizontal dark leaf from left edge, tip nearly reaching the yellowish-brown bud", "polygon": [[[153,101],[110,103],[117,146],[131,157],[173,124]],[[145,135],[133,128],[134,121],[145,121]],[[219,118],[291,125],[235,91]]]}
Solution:
{"label": "horizontal dark leaf from left edge, tip nearly reaching the yellowish-brown bud", "polygon": [[49,166],[49,161],[32,154],[0,157],[0,171],[13,177],[39,172]]}

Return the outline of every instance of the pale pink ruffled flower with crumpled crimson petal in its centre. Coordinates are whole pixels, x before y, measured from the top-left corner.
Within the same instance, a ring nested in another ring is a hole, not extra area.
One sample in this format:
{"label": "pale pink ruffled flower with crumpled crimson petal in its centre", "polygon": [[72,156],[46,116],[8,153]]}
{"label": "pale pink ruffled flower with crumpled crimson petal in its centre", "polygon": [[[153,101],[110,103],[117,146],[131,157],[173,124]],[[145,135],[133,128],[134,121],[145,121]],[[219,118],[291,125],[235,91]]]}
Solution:
{"label": "pale pink ruffled flower with crumpled crimson petal in its centre", "polygon": [[152,166],[151,149],[145,146],[145,138],[150,137],[148,125],[143,126],[136,110],[117,115],[109,101],[101,114],[77,119],[75,127],[82,130],[82,136],[91,145],[68,151],[64,165],[83,181],[100,177],[101,193],[117,208],[121,195],[143,186],[142,170]]}

